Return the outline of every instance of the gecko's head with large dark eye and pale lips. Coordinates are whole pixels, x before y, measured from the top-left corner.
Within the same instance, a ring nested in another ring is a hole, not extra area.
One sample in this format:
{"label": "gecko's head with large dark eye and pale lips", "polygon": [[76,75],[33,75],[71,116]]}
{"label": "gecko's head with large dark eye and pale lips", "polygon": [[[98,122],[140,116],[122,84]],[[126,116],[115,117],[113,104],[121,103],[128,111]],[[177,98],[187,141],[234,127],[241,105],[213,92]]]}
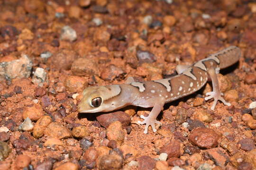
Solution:
{"label": "gecko's head with large dark eye and pale lips", "polygon": [[87,87],[83,91],[78,111],[81,113],[96,113],[115,110],[115,107],[111,105],[111,98],[119,95],[120,92],[119,85]]}

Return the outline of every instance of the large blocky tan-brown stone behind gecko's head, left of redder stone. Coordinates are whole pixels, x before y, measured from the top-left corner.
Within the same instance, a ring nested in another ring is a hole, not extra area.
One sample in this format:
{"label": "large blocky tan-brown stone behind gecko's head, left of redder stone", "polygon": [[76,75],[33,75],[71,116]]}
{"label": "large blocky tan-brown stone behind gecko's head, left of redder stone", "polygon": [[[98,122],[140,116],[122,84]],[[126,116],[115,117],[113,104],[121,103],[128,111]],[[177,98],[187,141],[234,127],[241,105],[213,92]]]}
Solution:
{"label": "large blocky tan-brown stone behind gecko's head, left of redder stone", "polygon": [[100,74],[97,62],[94,59],[88,58],[75,59],[71,66],[71,71],[74,76],[99,76]]}

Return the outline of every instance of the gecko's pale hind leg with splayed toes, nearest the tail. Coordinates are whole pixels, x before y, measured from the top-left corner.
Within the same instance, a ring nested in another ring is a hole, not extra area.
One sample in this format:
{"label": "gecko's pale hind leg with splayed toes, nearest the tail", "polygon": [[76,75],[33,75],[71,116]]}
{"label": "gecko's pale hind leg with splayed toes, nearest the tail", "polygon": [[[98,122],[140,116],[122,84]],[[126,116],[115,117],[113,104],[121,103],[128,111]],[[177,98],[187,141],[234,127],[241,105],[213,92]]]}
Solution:
{"label": "gecko's pale hind leg with splayed toes, nearest the tail", "polygon": [[225,105],[230,106],[231,104],[229,102],[226,102],[225,99],[223,97],[221,97],[223,95],[223,93],[221,93],[219,90],[219,82],[218,82],[216,70],[214,68],[210,68],[210,69],[208,69],[208,74],[210,75],[210,78],[211,78],[213,90],[212,90],[212,92],[206,93],[206,95],[209,95],[209,96],[205,97],[204,99],[205,100],[209,100],[211,98],[214,99],[213,104],[210,107],[210,109],[214,110],[218,100],[223,102]]}

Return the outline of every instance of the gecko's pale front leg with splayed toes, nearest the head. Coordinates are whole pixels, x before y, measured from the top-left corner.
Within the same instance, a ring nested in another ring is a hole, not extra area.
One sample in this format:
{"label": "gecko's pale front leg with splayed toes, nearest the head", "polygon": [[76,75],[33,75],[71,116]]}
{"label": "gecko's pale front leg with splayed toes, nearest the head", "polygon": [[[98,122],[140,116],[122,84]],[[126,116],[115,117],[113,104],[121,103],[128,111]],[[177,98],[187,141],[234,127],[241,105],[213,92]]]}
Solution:
{"label": "gecko's pale front leg with splayed toes, nearest the head", "polygon": [[[152,99],[153,100],[153,99]],[[159,115],[160,111],[163,110],[163,106],[165,104],[165,100],[163,98],[154,98],[154,106],[151,112],[149,113],[148,117],[143,115],[140,118],[144,119],[144,121],[138,121],[139,124],[143,125],[146,124],[144,133],[147,134],[147,129],[149,125],[152,127],[153,132],[156,132],[155,124],[161,124],[161,122],[157,121],[156,118]]]}

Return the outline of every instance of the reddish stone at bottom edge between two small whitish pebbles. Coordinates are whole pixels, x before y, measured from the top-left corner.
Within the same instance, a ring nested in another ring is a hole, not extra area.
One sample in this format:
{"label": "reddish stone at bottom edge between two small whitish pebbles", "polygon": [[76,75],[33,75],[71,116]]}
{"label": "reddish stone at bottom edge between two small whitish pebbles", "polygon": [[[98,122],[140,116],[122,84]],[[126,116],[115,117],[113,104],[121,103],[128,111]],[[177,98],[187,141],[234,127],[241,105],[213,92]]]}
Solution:
{"label": "reddish stone at bottom edge between two small whitish pebbles", "polygon": [[149,156],[141,156],[137,158],[139,170],[153,170],[155,168],[155,160]]}

